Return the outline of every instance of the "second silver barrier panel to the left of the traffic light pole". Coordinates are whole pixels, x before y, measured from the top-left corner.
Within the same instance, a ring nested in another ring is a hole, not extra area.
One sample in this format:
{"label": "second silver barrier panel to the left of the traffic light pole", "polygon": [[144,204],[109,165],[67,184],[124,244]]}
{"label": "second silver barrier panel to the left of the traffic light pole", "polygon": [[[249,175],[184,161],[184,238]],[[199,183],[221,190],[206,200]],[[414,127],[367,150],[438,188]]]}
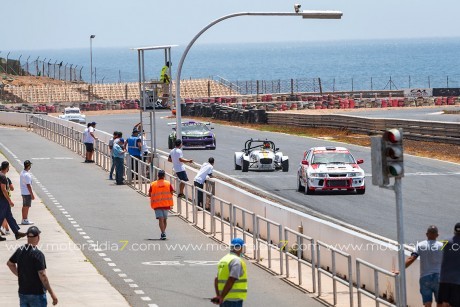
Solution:
{"label": "second silver barrier panel to the left of the traffic light pole", "polygon": [[[331,271],[328,269],[323,269],[321,267],[321,247],[324,247],[326,250],[331,252]],[[334,305],[337,305],[337,282],[348,286],[349,296],[350,296],[350,306],[353,306],[353,268],[352,268],[352,260],[351,255],[344,253],[326,243],[321,241],[316,241],[316,252],[317,252],[317,270],[318,270],[318,296],[321,296],[322,293],[322,283],[321,283],[321,275],[324,274],[329,276],[332,279],[332,287],[333,287],[333,297],[334,297]],[[340,276],[336,270],[336,255],[342,256],[347,260],[348,266],[348,276]]]}

